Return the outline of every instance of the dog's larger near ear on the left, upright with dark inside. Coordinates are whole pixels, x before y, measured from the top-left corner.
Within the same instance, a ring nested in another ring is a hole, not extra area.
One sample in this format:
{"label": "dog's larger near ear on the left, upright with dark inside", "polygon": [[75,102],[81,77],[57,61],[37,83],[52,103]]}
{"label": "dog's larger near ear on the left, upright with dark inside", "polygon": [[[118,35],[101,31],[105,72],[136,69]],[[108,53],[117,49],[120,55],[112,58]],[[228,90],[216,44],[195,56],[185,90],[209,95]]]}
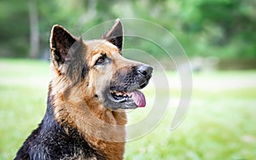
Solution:
{"label": "dog's larger near ear on the left, upright with dark inside", "polygon": [[51,60],[56,68],[59,68],[68,59],[68,50],[76,41],[76,38],[62,26],[52,27],[49,45]]}

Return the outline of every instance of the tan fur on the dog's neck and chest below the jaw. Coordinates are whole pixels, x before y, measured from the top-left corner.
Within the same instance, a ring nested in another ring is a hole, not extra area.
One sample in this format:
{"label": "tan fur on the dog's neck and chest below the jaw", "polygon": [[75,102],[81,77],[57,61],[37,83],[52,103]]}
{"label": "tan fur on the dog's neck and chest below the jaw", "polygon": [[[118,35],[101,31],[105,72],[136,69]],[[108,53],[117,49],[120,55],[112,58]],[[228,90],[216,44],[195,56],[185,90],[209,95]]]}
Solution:
{"label": "tan fur on the dog's neck and chest below the jaw", "polygon": [[[65,89],[65,78],[52,80],[53,110],[55,120],[62,126],[78,129],[90,146],[102,152],[108,159],[122,159],[125,151],[125,112],[111,111],[102,106],[84,85]],[[56,88],[58,86],[59,88]],[[69,92],[69,94],[67,94]],[[83,93],[85,92],[85,93]],[[83,96],[86,94],[86,96]],[[67,134],[68,129],[65,129]]]}

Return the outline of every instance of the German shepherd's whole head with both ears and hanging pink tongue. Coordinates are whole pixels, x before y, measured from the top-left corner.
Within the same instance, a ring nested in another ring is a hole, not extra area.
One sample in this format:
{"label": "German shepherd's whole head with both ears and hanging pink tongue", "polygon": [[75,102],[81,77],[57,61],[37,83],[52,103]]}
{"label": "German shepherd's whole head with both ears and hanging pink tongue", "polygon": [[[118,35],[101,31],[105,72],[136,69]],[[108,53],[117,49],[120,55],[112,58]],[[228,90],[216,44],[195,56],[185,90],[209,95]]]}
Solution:
{"label": "German shepherd's whole head with both ears and hanging pink tongue", "polygon": [[[145,106],[143,89],[152,68],[127,60],[122,54],[123,26],[117,20],[101,39],[83,41],[61,26],[54,26],[50,37],[51,59],[57,77],[65,79],[64,92],[81,89],[81,96],[90,106],[112,110]],[[79,92],[79,91],[78,91]],[[71,93],[67,94],[67,99]]]}

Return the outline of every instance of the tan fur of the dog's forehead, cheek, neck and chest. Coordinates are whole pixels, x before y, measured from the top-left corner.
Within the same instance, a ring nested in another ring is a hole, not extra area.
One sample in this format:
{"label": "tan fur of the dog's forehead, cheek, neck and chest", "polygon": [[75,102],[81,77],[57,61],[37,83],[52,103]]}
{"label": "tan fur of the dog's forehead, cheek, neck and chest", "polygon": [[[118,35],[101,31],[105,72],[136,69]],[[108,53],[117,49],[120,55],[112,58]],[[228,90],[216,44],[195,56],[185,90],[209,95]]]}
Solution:
{"label": "tan fur of the dog's forehead, cheek, neck and chest", "polygon": [[[125,111],[109,110],[102,106],[95,94],[110,81],[111,71],[114,72],[120,66],[131,66],[133,61],[125,60],[119,54],[119,50],[105,40],[84,42],[84,48],[84,60],[90,70],[84,81],[75,84],[72,89],[69,88],[72,82],[61,76],[53,66],[55,77],[51,85],[55,87],[51,94],[55,95],[55,119],[58,123],[67,123],[79,129],[90,146],[101,151],[108,159],[123,159],[127,122]],[[93,67],[101,53],[108,54],[114,60],[105,71]]]}

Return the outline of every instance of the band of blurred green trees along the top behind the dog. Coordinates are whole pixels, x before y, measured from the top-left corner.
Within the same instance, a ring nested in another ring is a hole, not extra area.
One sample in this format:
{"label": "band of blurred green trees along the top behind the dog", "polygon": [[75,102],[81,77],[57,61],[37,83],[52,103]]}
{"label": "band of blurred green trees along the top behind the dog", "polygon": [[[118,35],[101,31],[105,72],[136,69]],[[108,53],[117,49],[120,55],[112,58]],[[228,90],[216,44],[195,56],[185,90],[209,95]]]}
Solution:
{"label": "band of blurred green trees along the top behind the dog", "polygon": [[[106,20],[140,18],[172,31],[190,57],[256,59],[255,10],[254,0],[3,0],[0,55],[42,57],[49,50],[49,31],[54,24],[79,36]],[[158,52],[151,43],[141,42],[141,46],[148,53]]]}

